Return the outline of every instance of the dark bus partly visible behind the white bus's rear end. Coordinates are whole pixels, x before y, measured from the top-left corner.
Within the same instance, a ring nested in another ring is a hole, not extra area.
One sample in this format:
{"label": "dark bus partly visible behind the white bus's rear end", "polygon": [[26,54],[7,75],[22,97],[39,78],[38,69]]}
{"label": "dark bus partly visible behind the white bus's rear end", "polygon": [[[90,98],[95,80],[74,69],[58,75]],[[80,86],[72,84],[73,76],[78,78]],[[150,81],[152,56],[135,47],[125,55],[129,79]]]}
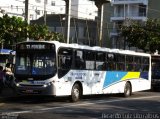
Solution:
{"label": "dark bus partly visible behind the white bus's rear end", "polygon": [[151,55],[152,62],[152,80],[151,89],[153,91],[160,90],[160,55]]}

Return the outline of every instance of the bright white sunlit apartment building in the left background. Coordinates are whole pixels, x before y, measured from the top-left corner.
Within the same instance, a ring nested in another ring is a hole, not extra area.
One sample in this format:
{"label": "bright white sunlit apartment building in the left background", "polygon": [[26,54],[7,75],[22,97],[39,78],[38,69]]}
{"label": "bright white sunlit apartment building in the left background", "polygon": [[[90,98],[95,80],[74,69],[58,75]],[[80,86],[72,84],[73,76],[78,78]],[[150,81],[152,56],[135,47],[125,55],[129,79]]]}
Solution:
{"label": "bright white sunlit apartment building in the left background", "polygon": [[[64,0],[29,0],[29,17],[35,20],[46,14],[65,14]],[[46,12],[44,12],[46,11]],[[7,13],[10,16],[24,18],[25,0],[1,0],[0,16]],[[71,16],[82,19],[95,19],[97,8],[93,1],[71,0]]]}

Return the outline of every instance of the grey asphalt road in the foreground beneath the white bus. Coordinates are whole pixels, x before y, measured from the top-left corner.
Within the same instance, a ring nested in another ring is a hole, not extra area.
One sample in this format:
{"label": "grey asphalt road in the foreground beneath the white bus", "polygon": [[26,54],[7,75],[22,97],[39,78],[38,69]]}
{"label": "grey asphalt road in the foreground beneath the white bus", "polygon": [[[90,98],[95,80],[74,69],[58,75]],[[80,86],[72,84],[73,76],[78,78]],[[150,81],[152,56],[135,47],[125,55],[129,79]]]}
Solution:
{"label": "grey asphalt road in the foreground beneath the white bus", "polygon": [[18,97],[0,102],[2,119],[159,119],[160,92],[87,96],[77,103],[66,98]]}

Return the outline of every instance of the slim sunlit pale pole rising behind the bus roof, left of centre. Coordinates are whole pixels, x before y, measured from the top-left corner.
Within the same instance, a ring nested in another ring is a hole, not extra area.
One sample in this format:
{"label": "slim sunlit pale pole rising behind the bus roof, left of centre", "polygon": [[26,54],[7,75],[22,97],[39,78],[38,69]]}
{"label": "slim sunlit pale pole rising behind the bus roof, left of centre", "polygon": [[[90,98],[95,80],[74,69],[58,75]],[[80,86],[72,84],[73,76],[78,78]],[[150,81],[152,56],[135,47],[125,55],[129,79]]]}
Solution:
{"label": "slim sunlit pale pole rising behind the bus roof, left of centre", "polygon": [[64,0],[66,2],[66,24],[65,24],[65,38],[67,43],[69,43],[70,36],[70,19],[71,19],[71,0]]}

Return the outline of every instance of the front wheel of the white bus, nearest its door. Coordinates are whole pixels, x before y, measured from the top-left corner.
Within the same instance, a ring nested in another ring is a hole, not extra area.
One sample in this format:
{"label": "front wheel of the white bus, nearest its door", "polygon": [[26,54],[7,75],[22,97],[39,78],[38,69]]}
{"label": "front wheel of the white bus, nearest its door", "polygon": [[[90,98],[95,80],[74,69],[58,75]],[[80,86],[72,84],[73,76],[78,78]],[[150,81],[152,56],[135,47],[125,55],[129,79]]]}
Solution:
{"label": "front wheel of the white bus, nearest its door", "polygon": [[71,101],[72,102],[77,102],[81,97],[81,88],[80,86],[76,83],[72,87],[72,92],[71,92]]}

